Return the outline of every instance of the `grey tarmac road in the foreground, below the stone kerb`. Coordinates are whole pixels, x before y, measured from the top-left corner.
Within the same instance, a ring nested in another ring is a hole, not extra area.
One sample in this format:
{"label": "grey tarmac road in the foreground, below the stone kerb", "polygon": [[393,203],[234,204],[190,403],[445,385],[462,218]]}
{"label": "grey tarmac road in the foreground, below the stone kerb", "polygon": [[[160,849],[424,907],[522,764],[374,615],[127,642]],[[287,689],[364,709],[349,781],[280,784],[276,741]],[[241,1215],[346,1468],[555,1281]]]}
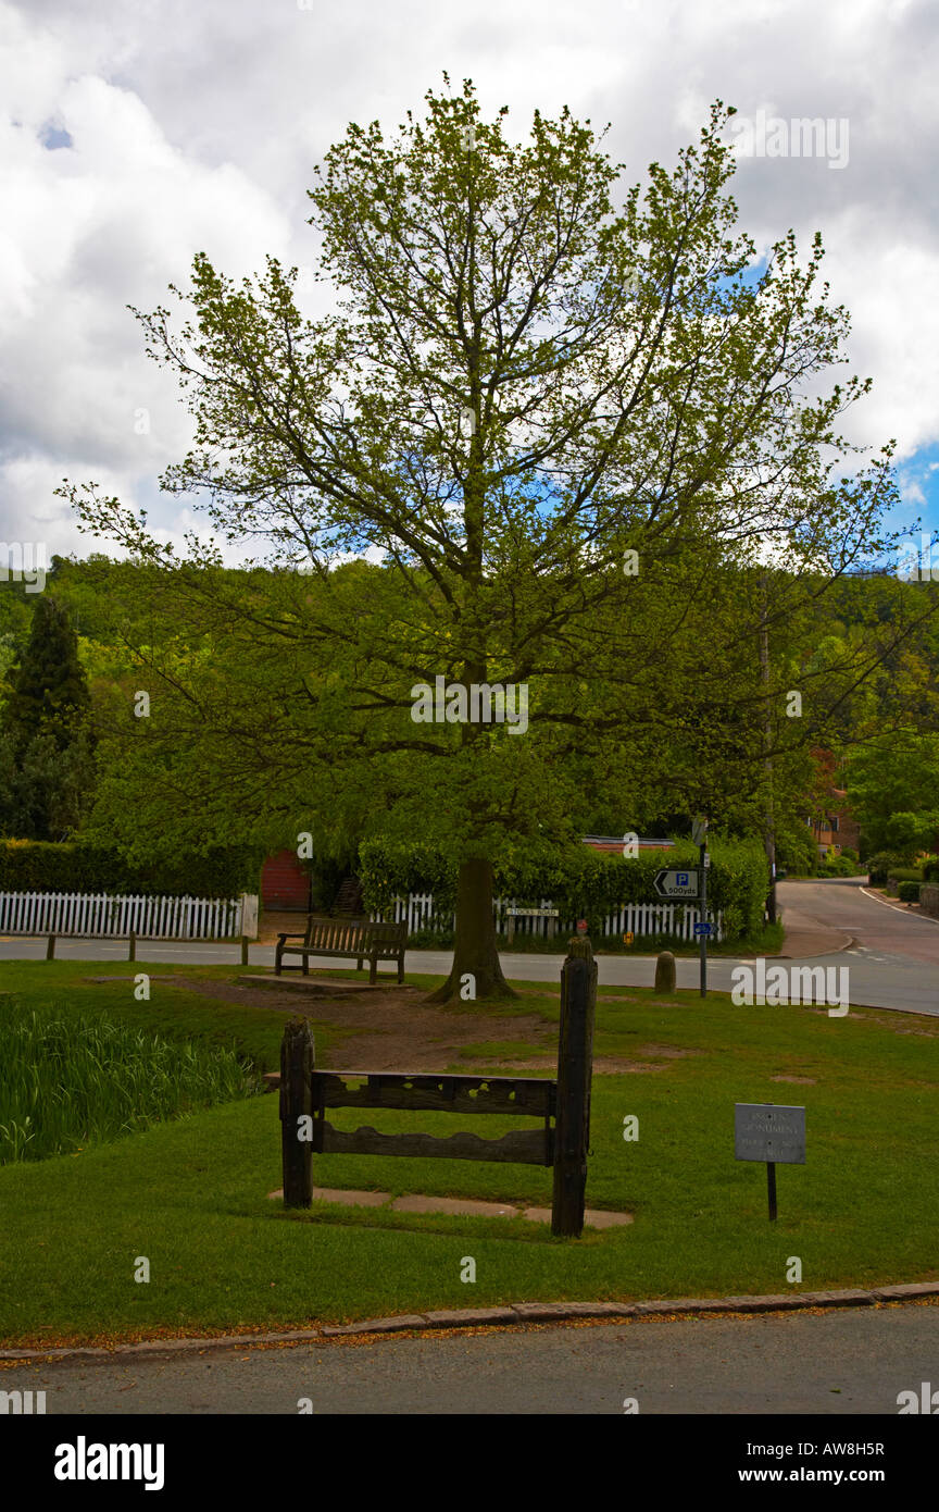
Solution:
{"label": "grey tarmac road in the foreground, below the stone kerb", "polygon": [[17,1365],[47,1414],[897,1414],[936,1380],[939,1306],[636,1321],[361,1346]]}

